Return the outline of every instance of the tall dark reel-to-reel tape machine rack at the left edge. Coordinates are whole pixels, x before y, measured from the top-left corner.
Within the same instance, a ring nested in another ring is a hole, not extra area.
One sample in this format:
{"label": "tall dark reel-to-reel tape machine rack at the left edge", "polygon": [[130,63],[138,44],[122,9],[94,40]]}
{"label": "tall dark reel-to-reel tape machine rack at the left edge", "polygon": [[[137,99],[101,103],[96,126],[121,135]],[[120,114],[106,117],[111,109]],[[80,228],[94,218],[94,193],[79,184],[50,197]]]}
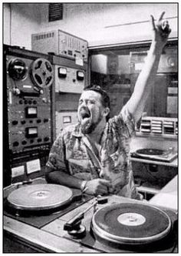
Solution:
{"label": "tall dark reel-to-reel tape machine rack at the left edge", "polygon": [[51,148],[54,66],[48,55],[8,45],[4,45],[3,64],[3,150],[8,185],[12,177],[27,174],[27,160],[45,162]]}

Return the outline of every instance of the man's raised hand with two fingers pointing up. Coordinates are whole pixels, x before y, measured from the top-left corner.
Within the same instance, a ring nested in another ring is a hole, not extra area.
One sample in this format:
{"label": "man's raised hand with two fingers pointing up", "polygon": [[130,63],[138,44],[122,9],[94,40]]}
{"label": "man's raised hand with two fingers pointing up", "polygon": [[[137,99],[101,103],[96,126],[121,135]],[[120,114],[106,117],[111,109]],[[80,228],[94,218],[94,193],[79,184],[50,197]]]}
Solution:
{"label": "man's raised hand with two fingers pointing up", "polygon": [[167,39],[171,32],[171,29],[169,29],[169,22],[167,20],[163,20],[164,14],[165,12],[163,12],[160,15],[160,19],[156,22],[156,24],[154,22],[153,15],[151,15],[151,23],[153,27],[153,40],[162,47],[166,45]]}

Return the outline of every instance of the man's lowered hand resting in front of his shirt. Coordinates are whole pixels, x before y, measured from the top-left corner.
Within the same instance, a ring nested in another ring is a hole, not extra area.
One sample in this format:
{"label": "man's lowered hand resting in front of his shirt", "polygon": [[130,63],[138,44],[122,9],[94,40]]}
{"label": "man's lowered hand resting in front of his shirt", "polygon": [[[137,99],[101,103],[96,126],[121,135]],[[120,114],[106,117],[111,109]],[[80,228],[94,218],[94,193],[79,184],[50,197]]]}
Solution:
{"label": "man's lowered hand resting in front of his shirt", "polygon": [[88,180],[86,184],[87,194],[104,195],[109,193],[109,187],[111,187],[110,180],[95,179]]}

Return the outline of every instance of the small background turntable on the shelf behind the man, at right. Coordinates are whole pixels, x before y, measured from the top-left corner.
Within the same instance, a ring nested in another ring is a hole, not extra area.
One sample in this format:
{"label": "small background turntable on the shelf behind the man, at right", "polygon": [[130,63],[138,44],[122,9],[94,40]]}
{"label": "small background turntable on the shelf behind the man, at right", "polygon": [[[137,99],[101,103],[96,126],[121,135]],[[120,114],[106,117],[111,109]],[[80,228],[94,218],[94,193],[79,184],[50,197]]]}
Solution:
{"label": "small background turntable on the shelf behind the man, at right", "polygon": [[176,159],[177,153],[174,151],[174,148],[172,147],[170,147],[168,150],[143,148],[136,150],[134,153],[132,153],[132,157],[169,163]]}

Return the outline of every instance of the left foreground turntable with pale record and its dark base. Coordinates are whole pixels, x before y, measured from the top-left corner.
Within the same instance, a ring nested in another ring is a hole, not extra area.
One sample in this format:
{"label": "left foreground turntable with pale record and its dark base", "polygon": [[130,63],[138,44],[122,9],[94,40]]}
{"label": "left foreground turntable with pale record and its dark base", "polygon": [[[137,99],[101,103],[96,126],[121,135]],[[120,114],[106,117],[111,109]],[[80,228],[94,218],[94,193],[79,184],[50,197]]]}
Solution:
{"label": "left foreground turntable with pale record and its dark base", "polygon": [[35,182],[10,190],[4,200],[4,214],[41,228],[91,198],[89,195],[83,197],[77,189]]}

